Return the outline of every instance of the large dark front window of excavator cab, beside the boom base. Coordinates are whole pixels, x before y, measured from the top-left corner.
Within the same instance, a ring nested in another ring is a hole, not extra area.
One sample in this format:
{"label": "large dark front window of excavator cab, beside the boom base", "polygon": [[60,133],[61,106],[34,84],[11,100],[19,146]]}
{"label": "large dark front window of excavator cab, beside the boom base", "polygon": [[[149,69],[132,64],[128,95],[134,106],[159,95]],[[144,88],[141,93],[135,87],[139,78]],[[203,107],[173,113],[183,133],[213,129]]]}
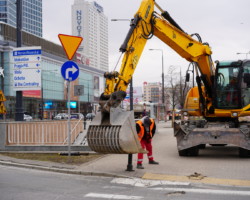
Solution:
{"label": "large dark front window of excavator cab, beside the boom base", "polygon": [[241,106],[240,102],[240,66],[217,65],[216,70],[216,108],[235,109]]}

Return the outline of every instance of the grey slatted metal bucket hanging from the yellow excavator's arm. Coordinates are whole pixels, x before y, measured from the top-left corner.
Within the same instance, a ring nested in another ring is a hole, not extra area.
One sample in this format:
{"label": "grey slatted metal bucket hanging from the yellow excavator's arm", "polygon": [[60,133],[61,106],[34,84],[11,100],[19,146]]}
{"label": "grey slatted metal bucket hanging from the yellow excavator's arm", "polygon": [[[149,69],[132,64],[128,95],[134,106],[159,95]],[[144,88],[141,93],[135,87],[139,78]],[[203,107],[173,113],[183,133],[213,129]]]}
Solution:
{"label": "grey slatted metal bucket hanging from the yellow excavator's arm", "polygon": [[111,108],[109,113],[98,112],[89,125],[87,141],[98,153],[146,153],[138,140],[133,111],[119,107]]}

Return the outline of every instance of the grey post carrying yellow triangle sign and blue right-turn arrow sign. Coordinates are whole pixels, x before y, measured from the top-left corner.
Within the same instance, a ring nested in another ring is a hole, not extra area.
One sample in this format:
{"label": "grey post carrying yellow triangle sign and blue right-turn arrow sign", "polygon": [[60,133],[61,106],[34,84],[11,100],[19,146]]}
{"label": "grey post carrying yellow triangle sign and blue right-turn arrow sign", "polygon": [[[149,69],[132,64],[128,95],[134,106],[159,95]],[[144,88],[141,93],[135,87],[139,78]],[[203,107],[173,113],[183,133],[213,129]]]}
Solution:
{"label": "grey post carrying yellow triangle sign and blue right-turn arrow sign", "polygon": [[[82,42],[82,37],[76,37],[71,35],[58,35],[60,42],[64,48],[65,53],[69,60],[72,60],[76,50]],[[66,61],[61,68],[62,77],[67,81],[68,89],[68,156],[71,155],[71,124],[70,124],[70,82],[74,81],[79,76],[79,67],[73,61]]]}

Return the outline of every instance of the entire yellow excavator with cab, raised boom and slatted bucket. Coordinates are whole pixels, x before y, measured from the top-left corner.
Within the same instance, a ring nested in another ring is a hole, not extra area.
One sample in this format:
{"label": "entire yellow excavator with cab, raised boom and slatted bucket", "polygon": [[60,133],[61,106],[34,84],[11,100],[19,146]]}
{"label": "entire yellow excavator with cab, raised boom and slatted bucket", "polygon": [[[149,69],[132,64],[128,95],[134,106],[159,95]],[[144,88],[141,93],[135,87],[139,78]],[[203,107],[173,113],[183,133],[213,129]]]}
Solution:
{"label": "entire yellow excavator with cab, raised boom and slatted bucket", "polygon": [[[155,7],[161,12],[158,14]],[[120,104],[146,42],[156,36],[194,65],[197,86],[187,93],[183,120],[174,126],[180,156],[197,156],[206,144],[235,145],[241,157],[249,156],[250,126],[240,117],[250,115],[250,61],[216,61],[199,34],[187,34],[154,0],[142,0],[120,47],[120,71],[104,74],[106,88],[100,112],[87,131],[89,147],[100,153],[143,152],[137,139],[133,111]],[[196,116],[198,119],[191,117]]]}

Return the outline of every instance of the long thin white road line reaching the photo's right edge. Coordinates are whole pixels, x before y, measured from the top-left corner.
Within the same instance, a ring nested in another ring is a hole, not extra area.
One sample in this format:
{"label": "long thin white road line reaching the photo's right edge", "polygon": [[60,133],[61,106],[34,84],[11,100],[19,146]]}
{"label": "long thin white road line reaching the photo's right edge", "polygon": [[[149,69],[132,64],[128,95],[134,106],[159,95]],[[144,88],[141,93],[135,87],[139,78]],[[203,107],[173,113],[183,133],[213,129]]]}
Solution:
{"label": "long thin white road line reaching the photo's right edge", "polygon": [[211,189],[192,189],[192,188],[150,188],[151,190],[164,190],[171,192],[185,193],[201,193],[201,194],[219,194],[219,195],[235,195],[235,196],[250,196],[250,191],[239,190],[211,190]]}

